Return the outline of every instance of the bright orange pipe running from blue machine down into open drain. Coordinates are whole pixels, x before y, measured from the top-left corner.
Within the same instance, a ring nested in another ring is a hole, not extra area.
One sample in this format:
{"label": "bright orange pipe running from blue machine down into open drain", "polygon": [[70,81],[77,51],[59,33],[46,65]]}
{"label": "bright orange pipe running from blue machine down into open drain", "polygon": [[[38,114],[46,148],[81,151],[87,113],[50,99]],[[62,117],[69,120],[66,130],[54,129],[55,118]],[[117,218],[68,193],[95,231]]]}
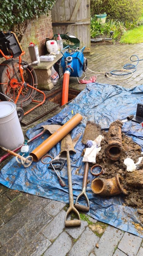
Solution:
{"label": "bright orange pipe running from blue machine down into open drain", "polygon": [[69,95],[69,72],[63,74],[62,106],[68,102]]}

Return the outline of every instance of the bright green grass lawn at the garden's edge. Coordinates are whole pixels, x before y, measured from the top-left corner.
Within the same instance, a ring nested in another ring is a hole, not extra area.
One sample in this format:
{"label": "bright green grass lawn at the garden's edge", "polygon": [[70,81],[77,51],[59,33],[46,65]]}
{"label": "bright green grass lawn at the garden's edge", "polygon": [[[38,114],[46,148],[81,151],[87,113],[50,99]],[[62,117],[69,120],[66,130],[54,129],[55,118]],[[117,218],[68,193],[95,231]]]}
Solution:
{"label": "bright green grass lawn at the garden's edge", "polygon": [[120,43],[138,44],[143,43],[143,25],[128,30],[121,36]]}

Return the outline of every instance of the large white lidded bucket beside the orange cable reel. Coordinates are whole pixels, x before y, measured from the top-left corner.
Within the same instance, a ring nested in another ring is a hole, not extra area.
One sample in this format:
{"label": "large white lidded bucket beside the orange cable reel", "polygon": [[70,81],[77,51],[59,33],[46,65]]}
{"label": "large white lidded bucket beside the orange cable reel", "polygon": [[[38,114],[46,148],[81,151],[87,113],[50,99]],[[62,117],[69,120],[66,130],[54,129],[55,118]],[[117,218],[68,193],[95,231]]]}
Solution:
{"label": "large white lidded bucket beside the orange cable reel", "polygon": [[24,142],[23,132],[13,102],[0,102],[0,146],[15,149]]}

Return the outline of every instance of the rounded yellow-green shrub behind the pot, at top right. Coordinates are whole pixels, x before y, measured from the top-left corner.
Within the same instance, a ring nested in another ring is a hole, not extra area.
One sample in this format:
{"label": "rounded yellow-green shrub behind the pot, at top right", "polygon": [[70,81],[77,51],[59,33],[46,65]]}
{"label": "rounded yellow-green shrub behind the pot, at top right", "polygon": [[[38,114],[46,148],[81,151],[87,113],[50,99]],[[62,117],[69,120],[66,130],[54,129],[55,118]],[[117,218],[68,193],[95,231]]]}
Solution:
{"label": "rounded yellow-green shrub behind the pot, at top right", "polygon": [[108,17],[137,21],[142,15],[142,0],[91,0],[91,16],[106,12]]}

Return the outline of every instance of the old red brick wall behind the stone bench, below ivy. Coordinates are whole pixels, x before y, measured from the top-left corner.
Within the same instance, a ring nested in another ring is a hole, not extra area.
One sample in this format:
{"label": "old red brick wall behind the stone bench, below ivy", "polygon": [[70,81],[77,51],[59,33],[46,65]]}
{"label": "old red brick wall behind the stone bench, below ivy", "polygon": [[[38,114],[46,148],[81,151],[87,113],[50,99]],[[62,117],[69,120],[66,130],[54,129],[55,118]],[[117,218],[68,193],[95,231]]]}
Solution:
{"label": "old red brick wall behind the stone bench, below ivy", "polygon": [[49,16],[42,15],[40,18],[29,22],[25,36],[23,40],[20,42],[23,51],[25,51],[23,59],[27,60],[28,62],[31,61],[28,51],[28,46],[31,41],[38,45],[39,56],[44,55],[46,37],[53,37],[52,18],[50,12]]}

